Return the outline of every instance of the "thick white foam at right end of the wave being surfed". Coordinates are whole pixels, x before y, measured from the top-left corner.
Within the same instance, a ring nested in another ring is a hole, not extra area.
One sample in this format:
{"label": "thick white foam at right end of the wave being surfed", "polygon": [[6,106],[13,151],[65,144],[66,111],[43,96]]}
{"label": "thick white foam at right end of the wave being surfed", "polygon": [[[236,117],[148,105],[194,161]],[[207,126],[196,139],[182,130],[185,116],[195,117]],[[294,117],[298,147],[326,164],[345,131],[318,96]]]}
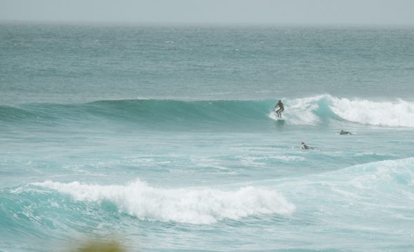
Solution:
{"label": "thick white foam at right end of the wave being surfed", "polygon": [[333,113],[350,122],[378,126],[414,127],[414,103],[331,97]]}

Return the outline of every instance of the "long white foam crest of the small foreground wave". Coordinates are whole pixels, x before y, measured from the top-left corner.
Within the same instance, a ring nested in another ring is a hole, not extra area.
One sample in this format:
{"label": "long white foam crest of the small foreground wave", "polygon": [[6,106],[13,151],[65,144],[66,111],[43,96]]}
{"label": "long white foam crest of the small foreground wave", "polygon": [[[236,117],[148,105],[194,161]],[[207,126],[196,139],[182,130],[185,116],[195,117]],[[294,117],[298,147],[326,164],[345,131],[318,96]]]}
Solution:
{"label": "long white foam crest of the small foreground wave", "polygon": [[219,220],[238,220],[249,215],[288,215],[295,210],[276,191],[247,186],[234,191],[214,188],[154,188],[137,180],[126,185],[101,186],[79,182],[46,181],[36,186],[52,188],[71,195],[75,200],[108,200],[119,211],[141,220],[211,224]]}

